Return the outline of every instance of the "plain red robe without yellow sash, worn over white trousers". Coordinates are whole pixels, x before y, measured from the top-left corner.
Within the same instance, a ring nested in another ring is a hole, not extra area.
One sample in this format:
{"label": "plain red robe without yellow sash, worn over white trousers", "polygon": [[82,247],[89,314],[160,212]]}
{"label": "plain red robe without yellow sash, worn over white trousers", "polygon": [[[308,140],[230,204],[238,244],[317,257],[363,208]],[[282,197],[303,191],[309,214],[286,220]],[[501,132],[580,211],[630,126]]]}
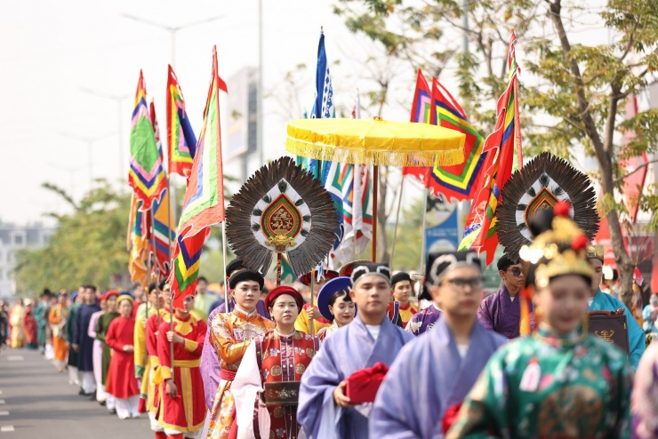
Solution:
{"label": "plain red robe without yellow sash, worn over white trousers", "polygon": [[125,352],[125,346],[132,346],[135,331],[135,319],[122,315],[109,323],[108,333],[105,335],[105,344],[114,349],[114,355],[109,361],[108,379],[105,391],[116,398],[127,399],[140,395],[137,379],[132,371],[135,370],[135,356],[132,352]]}

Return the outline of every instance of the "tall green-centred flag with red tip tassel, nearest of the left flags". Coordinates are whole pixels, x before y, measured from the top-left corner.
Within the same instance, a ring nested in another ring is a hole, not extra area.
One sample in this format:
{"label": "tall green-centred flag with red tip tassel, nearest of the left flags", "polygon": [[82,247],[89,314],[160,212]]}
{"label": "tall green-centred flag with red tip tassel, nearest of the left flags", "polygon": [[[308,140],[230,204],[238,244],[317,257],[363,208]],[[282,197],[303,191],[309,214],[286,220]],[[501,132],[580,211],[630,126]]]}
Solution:
{"label": "tall green-centred flag with red tip tassel, nearest of the left flags", "polygon": [[217,68],[217,47],[213,47],[213,74],[205,102],[201,128],[189,174],[188,189],[173,251],[173,307],[194,295],[199,260],[210,226],[224,220],[224,172],[221,163],[220,90],[226,90]]}

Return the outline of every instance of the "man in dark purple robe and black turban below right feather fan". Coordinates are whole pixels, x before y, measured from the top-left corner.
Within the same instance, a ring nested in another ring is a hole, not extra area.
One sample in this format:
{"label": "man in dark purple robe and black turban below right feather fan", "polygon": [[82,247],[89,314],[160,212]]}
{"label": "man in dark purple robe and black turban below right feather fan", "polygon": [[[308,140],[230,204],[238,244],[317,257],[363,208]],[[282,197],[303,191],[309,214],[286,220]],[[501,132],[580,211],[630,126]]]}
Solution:
{"label": "man in dark purple robe and black turban below right feather fan", "polygon": [[[517,294],[523,288],[525,275],[521,264],[507,255],[503,254],[497,265],[502,278],[502,289],[482,300],[477,311],[477,320],[485,329],[496,331],[507,339],[516,339],[521,321],[521,306]],[[530,304],[529,312],[532,311],[533,306]]]}

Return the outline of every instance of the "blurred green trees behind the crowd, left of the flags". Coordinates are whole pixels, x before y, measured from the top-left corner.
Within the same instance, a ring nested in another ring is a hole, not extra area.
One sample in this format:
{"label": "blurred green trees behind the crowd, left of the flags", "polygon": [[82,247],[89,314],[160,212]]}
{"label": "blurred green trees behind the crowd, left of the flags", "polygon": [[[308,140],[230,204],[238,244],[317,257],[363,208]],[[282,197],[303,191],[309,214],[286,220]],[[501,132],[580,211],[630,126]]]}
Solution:
{"label": "blurred green trees behind the crowd, left of the flags", "polygon": [[44,287],[73,291],[84,283],[100,289],[127,285],[128,193],[97,180],[97,185],[75,203],[63,189],[49,183],[43,187],[61,196],[73,212],[47,214],[58,221],[48,244],[42,249],[17,252],[17,289],[34,293]]}

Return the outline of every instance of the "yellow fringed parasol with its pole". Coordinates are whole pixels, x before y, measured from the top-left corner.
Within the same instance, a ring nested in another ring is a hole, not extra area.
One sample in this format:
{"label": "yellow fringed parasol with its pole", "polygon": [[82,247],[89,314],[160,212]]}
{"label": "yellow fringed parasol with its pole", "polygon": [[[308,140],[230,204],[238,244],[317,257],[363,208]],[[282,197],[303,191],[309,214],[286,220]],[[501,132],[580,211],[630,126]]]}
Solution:
{"label": "yellow fringed parasol with its pole", "polygon": [[372,119],[299,119],[285,149],[343,164],[373,164],[373,245],[377,254],[378,166],[450,166],[464,161],[466,135],[437,125]]}

